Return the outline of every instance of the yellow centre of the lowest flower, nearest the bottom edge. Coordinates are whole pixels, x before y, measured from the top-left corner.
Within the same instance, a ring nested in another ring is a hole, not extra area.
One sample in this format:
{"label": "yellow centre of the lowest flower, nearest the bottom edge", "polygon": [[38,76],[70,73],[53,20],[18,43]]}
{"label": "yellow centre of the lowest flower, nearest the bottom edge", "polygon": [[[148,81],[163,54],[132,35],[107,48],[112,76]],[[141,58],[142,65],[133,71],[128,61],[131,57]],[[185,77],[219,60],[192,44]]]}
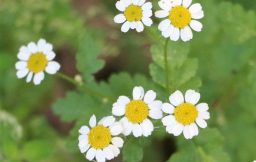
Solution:
{"label": "yellow centre of the lowest flower, nearest the bottom edge", "polygon": [[97,125],[90,130],[88,140],[89,144],[95,149],[105,148],[112,140],[110,129],[102,125]]}

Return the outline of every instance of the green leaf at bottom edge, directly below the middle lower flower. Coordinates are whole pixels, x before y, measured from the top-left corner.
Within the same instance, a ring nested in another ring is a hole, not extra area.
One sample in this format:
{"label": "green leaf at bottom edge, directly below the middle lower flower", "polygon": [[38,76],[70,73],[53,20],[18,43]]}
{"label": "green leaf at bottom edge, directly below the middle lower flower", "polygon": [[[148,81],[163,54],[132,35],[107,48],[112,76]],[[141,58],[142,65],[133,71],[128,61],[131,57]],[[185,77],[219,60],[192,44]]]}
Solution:
{"label": "green leaf at bottom edge, directly below the middle lower flower", "polygon": [[136,138],[126,141],[122,154],[125,162],[140,162],[143,159],[143,149]]}

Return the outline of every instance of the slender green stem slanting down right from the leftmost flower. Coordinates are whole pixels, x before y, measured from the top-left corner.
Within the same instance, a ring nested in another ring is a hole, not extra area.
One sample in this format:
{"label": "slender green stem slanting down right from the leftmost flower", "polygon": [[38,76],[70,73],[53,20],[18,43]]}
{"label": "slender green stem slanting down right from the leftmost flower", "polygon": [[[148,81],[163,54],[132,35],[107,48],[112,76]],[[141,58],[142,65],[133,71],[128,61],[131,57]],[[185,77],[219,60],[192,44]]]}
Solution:
{"label": "slender green stem slanting down right from the leftmost flower", "polygon": [[68,77],[67,75],[63,74],[63,73],[56,73],[56,76],[74,84],[74,85],[77,85],[78,87],[82,88],[83,90],[85,90],[86,92],[88,92],[89,94],[93,95],[93,96],[96,96],[96,97],[99,97],[99,98],[102,98],[102,99],[107,99],[107,100],[110,100],[111,102],[115,102],[115,99],[111,98],[111,97],[108,97],[108,96],[105,96],[101,93],[98,93],[96,91],[94,91],[93,89],[89,88],[88,86],[86,85],[81,85],[79,84],[75,79],[73,79],[72,77]]}

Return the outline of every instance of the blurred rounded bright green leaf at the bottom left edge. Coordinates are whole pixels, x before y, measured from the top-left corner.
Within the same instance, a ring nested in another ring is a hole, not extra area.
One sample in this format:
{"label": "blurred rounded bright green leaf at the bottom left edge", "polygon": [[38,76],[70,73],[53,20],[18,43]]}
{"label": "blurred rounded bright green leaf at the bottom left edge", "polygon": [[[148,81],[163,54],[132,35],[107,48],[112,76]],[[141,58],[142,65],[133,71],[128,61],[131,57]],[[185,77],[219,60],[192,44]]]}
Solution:
{"label": "blurred rounded bright green leaf at the bottom left edge", "polygon": [[44,139],[32,140],[24,145],[22,156],[31,162],[40,161],[51,155],[53,147],[51,143]]}

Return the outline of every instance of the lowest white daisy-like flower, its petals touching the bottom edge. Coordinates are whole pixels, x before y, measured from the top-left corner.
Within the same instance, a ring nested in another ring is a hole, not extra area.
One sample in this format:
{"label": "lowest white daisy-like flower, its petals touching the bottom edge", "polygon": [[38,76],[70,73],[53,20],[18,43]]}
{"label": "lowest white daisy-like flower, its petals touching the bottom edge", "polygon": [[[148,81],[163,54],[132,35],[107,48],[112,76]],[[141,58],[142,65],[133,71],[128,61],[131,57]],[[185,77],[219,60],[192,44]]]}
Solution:
{"label": "lowest white daisy-like flower, its petals touching the bottom edge", "polygon": [[81,153],[88,150],[85,155],[86,159],[92,161],[95,157],[97,162],[105,162],[119,155],[119,148],[123,146],[124,141],[117,135],[123,129],[122,124],[115,120],[113,116],[107,116],[96,125],[96,117],[93,115],[89,121],[91,129],[87,126],[79,129],[78,146]]}

